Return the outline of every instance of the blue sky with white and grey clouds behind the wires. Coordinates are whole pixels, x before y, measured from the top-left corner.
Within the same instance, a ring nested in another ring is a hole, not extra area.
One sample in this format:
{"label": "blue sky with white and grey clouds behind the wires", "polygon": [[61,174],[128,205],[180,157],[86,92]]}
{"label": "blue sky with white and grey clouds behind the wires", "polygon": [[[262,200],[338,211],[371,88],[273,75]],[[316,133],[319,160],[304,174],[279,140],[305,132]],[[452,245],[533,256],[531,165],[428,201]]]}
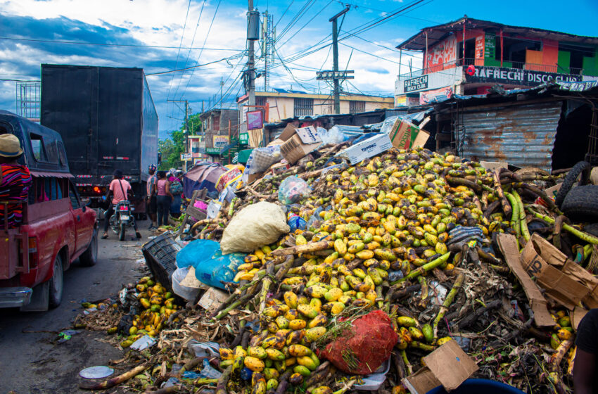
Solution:
{"label": "blue sky with white and grey clouds behind the wires", "polygon": [[[339,44],[339,64],[355,70],[355,80],[343,84],[345,91],[391,96],[399,62],[394,47],[423,27],[464,14],[598,36],[596,0],[414,2],[349,1],[351,9],[341,27],[345,39]],[[329,86],[315,80],[315,71],[332,67],[328,20],[343,4],[336,0],[254,0],[257,10],[271,13],[276,24],[271,87],[329,93]],[[409,6],[385,23],[358,32],[357,37],[346,33]],[[239,75],[246,62],[246,10],[247,2],[236,0],[0,0],[0,108],[15,110],[15,82],[2,80],[39,80],[41,63],[139,67],[146,74],[211,63],[148,76],[160,117],[160,136],[165,137],[184,117],[179,106],[167,99],[189,100],[193,112],[198,112],[202,100],[207,108],[220,99],[221,78],[224,101],[234,101],[244,93]],[[25,41],[31,39],[40,41]],[[306,51],[319,48],[306,56]],[[402,67],[409,59],[402,57]],[[411,60],[414,68],[421,66],[421,57]],[[263,68],[263,59],[258,59],[258,72]],[[257,89],[263,89],[263,84],[263,78],[258,78]]]}

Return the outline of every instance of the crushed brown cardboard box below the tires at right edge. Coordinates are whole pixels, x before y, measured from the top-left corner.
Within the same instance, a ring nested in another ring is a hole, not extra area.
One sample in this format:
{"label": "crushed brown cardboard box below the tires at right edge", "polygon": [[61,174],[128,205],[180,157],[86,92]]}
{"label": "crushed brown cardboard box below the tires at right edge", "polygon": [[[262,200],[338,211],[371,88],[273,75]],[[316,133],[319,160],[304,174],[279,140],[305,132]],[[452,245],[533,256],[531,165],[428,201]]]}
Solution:
{"label": "crushed brown cardboard box below the tires at right edge", "polygon": [[590,295],[591,289],[556,268],[564,267],[566,260],[566,255],[537,234],[532,235],[520,258],[523,268],[531,277],[537,278],[537,283],[546,289],[547,296],[573,310]]}

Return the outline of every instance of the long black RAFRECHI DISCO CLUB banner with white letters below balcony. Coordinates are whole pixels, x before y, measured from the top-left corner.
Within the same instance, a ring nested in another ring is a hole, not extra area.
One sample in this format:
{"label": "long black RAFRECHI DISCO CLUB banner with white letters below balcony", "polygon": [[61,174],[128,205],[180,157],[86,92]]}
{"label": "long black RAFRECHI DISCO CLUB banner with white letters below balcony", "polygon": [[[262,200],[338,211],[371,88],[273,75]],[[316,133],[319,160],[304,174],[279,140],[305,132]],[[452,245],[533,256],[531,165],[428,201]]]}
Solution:
{"label": "long black RAFRECHI DISCO CLUB banner with white letters below balcony", "polygon": [[[502,83],[523,86],[537,86],[550,81],[576,82],[581,81],[581,75],[557,74],[534,70],[520,70],[503,67],[476,66],[473,75],[466,75],[466,82]],[[407,81],[405,81],[407,82]]]}

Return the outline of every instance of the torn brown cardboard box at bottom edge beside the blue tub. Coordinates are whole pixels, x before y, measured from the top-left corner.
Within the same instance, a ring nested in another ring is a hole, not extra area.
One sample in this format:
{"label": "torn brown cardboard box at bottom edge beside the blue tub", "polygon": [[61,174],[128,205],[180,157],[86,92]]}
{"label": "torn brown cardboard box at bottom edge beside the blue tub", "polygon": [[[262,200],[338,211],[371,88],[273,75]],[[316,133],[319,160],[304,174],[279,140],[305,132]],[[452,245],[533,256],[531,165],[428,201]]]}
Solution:
{"label": "torn brown cardboard box at bottom edge beside the blue tub", "polygon": [[426,367],[402,380],[412,394],[425,394],[442,385],[445,390],[459,387],[473,372],[476,362],[459,348],[457,341],[448,341],[424,357]]}

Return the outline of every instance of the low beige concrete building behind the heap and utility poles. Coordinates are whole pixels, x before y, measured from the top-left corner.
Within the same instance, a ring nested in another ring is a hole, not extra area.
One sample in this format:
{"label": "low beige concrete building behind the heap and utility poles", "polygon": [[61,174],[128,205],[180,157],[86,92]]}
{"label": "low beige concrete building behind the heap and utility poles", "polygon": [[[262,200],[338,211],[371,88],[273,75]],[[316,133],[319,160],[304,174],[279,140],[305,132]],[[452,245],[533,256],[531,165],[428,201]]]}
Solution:
{"label": "low beige concrete building behind the heap and utility poles", "polygon": [[[308,94],[303,91],[288,91],[273,89],[274,91],[256,91],[255,105],[267,106],[267,117],[264,122],[280,122],[289,117],[331,115],[334,113],[331,94]],[[245,113],[248,108],[248,96],[238,98],[239,124],[241,132],[246,132]],[[393,108],[392,97],[367,96],[364,94],[341,94],[341,113],[355,114],[383,108]]]}

